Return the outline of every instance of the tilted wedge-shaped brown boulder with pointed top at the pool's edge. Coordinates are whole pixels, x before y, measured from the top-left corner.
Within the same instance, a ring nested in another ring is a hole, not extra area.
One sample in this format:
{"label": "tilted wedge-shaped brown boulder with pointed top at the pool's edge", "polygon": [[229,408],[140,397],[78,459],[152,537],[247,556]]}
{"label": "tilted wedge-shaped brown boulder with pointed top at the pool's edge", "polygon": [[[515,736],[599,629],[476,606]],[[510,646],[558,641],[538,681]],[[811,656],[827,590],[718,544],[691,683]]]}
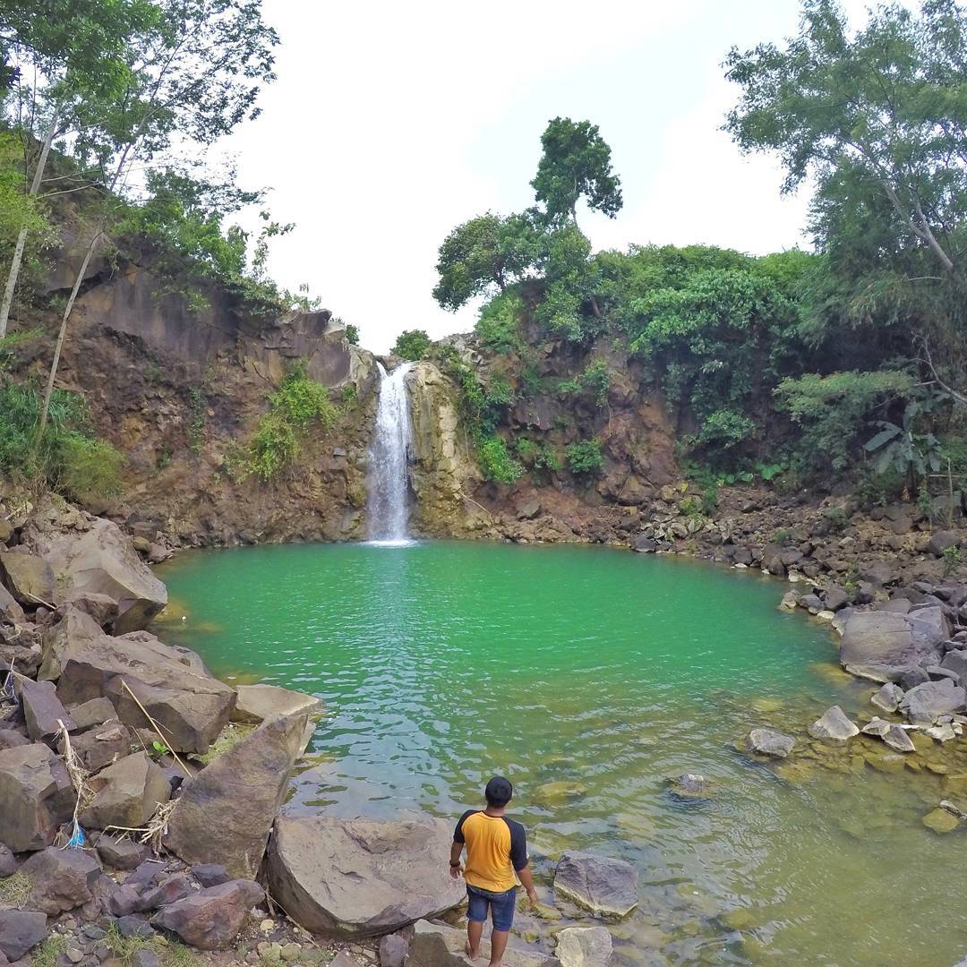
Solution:
{"label": "tilted wedge-shaped brown boulder with pointed top at the pool's edge", "polygon": [[251,879],[302,745],[305,713],[263,722],[183,786],[165,846],[188,864]]}

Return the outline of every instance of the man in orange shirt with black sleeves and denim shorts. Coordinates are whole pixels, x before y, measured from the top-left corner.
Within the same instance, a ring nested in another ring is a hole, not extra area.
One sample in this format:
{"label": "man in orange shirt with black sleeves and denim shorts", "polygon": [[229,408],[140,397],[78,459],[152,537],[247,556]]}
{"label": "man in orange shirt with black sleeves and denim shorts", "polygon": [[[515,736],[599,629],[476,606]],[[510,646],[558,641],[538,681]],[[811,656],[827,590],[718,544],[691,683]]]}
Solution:
{"label": "man in orange shirt with black sleeves and denim shorts", "polygon": [[[487,910],[493,921],[490,936],[490,967],[499,967],[507,948],[517,903],[517,878],[527,898],[537,903],[534,880],[528,868],[527,834],[523,826],[504,815],[513,786],[502,776],[486,784],[485,809],[467,809],[454,832],[450,849],[450,875],[460,875],[460,854],[467,848],[463,877],[467,881],[467,954],[480,955]],[[514,875],[516,874],[516,875]]]}

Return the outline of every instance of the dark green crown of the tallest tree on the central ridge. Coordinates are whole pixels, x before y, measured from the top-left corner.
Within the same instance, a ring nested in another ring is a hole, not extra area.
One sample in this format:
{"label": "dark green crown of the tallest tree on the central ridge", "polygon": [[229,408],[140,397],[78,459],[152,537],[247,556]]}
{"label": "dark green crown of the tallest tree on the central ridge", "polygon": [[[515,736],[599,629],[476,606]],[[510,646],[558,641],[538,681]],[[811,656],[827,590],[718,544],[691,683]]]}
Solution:
{"label": "dark green crown of the tallest tree on the central ridge", "polygon": [[541,135],[543,153],[531,182],[551,221],[577,220],[577,202],[613,219],[621,210],[621,180],[611,170],[611,149],[590,121],[554,118]]}

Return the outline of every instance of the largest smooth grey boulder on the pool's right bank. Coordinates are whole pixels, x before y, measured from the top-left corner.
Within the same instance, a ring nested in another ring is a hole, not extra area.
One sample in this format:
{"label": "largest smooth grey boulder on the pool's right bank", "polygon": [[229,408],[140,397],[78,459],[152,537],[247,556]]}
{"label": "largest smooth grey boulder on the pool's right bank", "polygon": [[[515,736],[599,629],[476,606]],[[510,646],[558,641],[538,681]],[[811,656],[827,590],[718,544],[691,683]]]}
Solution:
{"label": "largest smooth grey boulder on the pool's right bank", "polygon": [[892,681],[903,668],[936,663],[949,632],[939,607],[910,614],[854,611],[843,629],[839,660],[847,671]]}

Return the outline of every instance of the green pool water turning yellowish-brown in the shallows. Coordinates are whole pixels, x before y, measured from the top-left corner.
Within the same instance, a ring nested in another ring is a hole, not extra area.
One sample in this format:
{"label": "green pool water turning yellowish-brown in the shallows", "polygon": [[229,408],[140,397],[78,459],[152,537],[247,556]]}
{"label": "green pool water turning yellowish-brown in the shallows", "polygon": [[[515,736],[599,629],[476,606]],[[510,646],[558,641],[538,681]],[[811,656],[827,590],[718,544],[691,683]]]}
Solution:
{"label": "green pool water turning yellowish-brown in the shallows", "polygon": [[[873,711],[828,627],[777,611],[784,584],[478,542],[199,552],[160,572],[162,637],[227,681],[325,699],[290,811],[455,817],[502,773],[543,883],[567,847],[640,869],[640,907],[614,927],[626,962],[948,967],[967,952],[961,840],[921,823],[950,798],[941,777],[864,766],[859,751],[882,751],[865,739],[831,755],[801,740],[778,768],[736,750],[756,725],[804,735],[834,702]],[[684,772],[712,780],[707,799],[674,795]]]}

